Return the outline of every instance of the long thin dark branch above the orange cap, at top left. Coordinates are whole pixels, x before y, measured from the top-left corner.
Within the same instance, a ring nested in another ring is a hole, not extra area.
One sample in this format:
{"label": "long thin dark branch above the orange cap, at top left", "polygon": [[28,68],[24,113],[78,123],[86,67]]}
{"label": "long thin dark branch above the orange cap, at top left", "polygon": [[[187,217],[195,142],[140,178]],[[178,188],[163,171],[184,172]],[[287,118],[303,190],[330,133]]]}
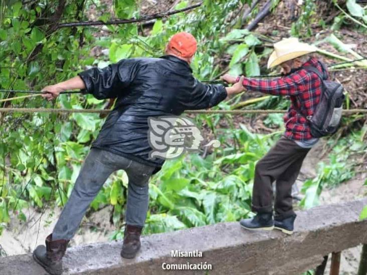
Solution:
{"label": "long thin dark branch above the orange cap, at top left", "polygon": [[61,24],[57,25],[57,28],[61,29],[61,28],[78,27],[78,26],[86,27],[86,26],[100,26],[100,25],[122,25],[122,24],[129,24],[129,23],[146,22],[146,21],[150,21],[152,19],[164,18],[164,17],[168,17],[168,16],[171,16],[171,15],[174,15],[174,14],[190,11],[190,10],[198,8],[202,5],[203,5],[203,3],[198,3],[198,4],[195,4],[195,5],[189,6],[185,9],[181,9],[181,10],[177,10],[177,11],[171,11],[171,12],[168,11],[168,12],[158,13],[158,14],[154,14],[154,15],[151,15],[151,16],[143,16],[139,19],[134,18],[134,19],[111,20],[111,21],[107,21],[107,22],[103,22],[103,21],[84,21],[84,22],[61,23]]}

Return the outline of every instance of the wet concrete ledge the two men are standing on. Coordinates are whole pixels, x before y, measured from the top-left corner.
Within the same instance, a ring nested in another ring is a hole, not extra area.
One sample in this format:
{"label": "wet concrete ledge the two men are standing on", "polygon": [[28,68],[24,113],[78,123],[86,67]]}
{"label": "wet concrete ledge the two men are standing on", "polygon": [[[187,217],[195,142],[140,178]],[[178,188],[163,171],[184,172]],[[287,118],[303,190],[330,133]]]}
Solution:
{"label": "wet concrete ledge the two men are standing on", "polygon": [[[247,231],[238,222],[219,223],[142,238],[135,259],[120,257],[121,242],[71,247],[64,274],[205,274],[167,271],[162,263],[207,263],[209,274],[297,274],[313,268],[323,255],[367,243],[367,220],[358,221],[367,198],[298,212],[295,233]],[[171,257],[171,250],[199,250],[202,257]],[[31,254],[0,257],[0,274],[46,274]]]}

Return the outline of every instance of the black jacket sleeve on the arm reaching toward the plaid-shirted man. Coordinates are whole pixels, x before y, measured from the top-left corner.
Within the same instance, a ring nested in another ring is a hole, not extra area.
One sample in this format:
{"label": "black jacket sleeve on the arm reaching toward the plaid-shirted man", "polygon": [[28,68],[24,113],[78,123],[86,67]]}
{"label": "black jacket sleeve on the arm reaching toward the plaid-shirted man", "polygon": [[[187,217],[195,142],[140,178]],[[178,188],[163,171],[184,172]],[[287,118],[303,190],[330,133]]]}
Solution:
{"label": "black jacket sleeve on the arm reaching toward the plaid-shirted man", "polygon": [[226,88],[220,84],[206,85],[194,79],[194,92],[187,99],[186,110],[208,109],[218,105],[227,97]]}

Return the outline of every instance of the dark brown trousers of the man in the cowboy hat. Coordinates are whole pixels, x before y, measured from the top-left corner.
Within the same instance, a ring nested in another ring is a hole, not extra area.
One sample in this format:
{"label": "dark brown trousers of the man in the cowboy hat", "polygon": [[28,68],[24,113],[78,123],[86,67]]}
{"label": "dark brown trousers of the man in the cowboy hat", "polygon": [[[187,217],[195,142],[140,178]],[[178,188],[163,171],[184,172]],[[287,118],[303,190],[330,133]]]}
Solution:
{"label": "dark brown trousers of the man in the cowboy hat", "polygon": [[296,181],[302,162],[310,148],[302,148],[293,140],[282,136],[273,148],[256,164],[252,193],[254,212],[273,211],[272,183],[276,181],[275,218],[294,214],[292,185]]}

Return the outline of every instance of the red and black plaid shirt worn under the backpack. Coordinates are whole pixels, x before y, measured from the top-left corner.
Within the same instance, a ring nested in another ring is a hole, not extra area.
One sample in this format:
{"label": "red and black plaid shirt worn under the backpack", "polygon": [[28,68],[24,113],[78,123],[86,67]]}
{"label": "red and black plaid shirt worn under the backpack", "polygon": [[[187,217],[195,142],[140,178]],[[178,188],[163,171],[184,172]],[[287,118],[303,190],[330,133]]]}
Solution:
{"label": "red and black plaid shirt worn under the backpack", "polygon": [[[322,72],[321,65],[316,58],[309,59],[303,66],[313,66]],[[284,115],[285,136],[301,141],[313,138],[309,122],[305,117],[313,115],[315,107],[320,101],[321,80],[315,73],[300,69],[288,76],[269,80],[245,78],[243,85],[251,91],[289,96],[291,106]],[[298,114],[294,106],[298,107],[305,117]]]}

